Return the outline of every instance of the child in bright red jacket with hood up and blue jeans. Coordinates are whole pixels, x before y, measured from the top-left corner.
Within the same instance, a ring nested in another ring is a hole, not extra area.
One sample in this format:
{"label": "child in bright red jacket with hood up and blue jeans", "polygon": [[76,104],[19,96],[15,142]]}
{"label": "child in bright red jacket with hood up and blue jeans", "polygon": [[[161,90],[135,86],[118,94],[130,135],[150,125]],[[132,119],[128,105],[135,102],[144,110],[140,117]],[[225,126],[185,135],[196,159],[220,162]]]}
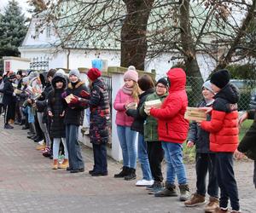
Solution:
{"label": "child in bright red jacket with hood up and blue jeans", "polygon": [[159,141],[165,151],[167,164],[166,188],[155,197],[177,196],[175,177],[180,189],[181,201],[189,199],[189,185],[183,164],[183,141],[186,140],[189,130],[189,122],[184,118],[188,107],[186,94],[186,73],[182,68],[172,68],[167,73],[170,82],[169,95],[166,97],[160,109],[149,109],[150,115],[158,119]]}

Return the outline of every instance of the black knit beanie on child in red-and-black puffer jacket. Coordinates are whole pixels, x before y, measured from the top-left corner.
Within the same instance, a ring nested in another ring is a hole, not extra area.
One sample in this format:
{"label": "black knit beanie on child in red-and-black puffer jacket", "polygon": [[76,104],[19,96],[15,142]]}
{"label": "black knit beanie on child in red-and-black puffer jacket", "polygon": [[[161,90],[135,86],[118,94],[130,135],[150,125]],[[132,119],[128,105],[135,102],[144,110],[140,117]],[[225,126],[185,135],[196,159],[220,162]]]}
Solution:
{"label": "black knit beanie on child in red-and-black puffer jacket", "polygon": [[211,83],[219,89],[223,89],[230,82],[230,72],[227,70],[219,70],[212,74]]}

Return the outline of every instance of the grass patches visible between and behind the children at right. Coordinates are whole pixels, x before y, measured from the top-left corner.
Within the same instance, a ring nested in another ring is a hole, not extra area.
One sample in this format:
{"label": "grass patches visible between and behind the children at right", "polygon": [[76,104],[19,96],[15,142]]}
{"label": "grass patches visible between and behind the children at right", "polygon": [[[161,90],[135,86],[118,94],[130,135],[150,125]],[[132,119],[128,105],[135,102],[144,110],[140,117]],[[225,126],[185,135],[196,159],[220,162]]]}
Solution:
{"label": "grass patches visible between and behind the children at right", "polygon": [[[250,126],[253,124],[253,120],[246,120],[240,129],[239,132],[239,141],[243,138],[247,130],[250,128]],[[188,148],[186,147],[186,142],[183,143],[183,160],[186,163],[194,163],[195,162],[195,147]]]}

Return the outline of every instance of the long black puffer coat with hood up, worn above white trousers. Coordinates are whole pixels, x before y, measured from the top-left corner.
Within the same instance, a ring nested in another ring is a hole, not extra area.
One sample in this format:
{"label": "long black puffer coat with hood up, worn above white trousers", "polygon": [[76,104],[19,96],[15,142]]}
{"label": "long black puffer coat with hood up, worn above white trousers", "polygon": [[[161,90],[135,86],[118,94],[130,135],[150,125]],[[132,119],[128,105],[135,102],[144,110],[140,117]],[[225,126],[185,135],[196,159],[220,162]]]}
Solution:
{"label": "long black puffer coat with hood up, worn above white trousers", "polygon": [[[63,86],[61,89],[56,89],[55,83],[60,81],[63,83]],[[66,131],[64,117],[61,117],[62,113],[65,111],[65,100],[62,99],[61,95],[66,89],[67,81],[62,74],[58,73],[55,74],[55,77],[52,79],[51,83],[54,89],[52,89],[48,95],[47,112],[51,111],[53,117],[51,118],[49,133],[53,138],[65,138]]]}

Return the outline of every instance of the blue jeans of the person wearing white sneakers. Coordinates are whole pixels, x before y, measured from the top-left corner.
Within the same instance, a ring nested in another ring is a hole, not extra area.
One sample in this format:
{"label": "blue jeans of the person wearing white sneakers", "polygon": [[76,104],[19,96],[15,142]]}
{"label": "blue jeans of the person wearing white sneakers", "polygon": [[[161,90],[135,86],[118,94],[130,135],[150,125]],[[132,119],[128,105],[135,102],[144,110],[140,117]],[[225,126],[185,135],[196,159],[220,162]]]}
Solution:
{"label": "blue jeans of the person wearing white sneakers", "polygon": [[148,147],[146,141],[144,141],[144,135],[139,133],[137,143],[137,155],[143,170],[143,180],[151,181],[152,174],[149,166],[147,149]]}

